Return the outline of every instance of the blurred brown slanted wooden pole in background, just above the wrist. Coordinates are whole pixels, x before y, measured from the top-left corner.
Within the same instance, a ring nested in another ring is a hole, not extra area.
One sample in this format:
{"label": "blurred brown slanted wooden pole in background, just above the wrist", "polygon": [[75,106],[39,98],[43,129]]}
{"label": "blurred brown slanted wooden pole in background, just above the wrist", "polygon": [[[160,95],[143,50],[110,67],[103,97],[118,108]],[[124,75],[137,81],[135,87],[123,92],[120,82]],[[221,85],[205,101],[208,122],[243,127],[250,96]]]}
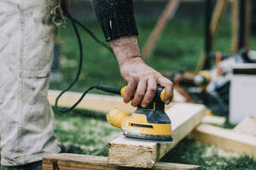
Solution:
{"label": "blurred brown slanted wooden pole in background, just above the wrist", "polygon": [[154,31],[148,38],[148,42],[143,48],[144,60],[148,58],[148,55],[151,53],[152,49],[154,48],[154,45],[157,42],[158,38],[160,37],[160,34],[166,27],[168,20],[170,20],[174,16],[179,3],[180,3],[180,0],[169,0],[169,3],[167,3],[165,10],[160,15],[160,18],[156,26],[154,27]]}

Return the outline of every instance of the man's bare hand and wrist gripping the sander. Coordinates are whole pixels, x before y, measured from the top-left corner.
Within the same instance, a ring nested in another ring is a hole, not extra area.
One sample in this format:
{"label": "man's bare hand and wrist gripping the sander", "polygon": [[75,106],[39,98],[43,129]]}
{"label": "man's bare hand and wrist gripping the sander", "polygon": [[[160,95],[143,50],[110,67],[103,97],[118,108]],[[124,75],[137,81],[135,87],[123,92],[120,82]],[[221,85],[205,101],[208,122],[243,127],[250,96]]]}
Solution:
{"label": "man's bare hand and wrist gripping the sander", "polygon": [[141,58],[136,36],[114,39],[110,41],[110,45],[119,62],[121,76],[128,83],[124,97],[125,103],[131,101],[136,91],[131,105],[137,106],[141,103],[143,107],[146,107],[154,98],[158,84],[166,88],[165,103],[171,102],[172,82],[145,64]]}

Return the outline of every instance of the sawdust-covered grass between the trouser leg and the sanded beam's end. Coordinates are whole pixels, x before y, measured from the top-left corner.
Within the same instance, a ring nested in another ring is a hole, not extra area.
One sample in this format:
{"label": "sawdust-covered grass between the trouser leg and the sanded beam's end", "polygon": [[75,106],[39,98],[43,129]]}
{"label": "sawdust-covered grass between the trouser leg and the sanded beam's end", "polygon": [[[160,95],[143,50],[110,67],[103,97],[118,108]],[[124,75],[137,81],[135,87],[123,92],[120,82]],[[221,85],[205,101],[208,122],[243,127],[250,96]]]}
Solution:
{"label": "sawdust-covered grass between the trouser leg and the sanded beam's end", "polygon": [[107,156],[108,141],[121,134],[120,129],[112,127],[105,116],[96,112],[76,110],[55,114],[55,135],[60,142],[79,144],[83,149],[79,154]]}

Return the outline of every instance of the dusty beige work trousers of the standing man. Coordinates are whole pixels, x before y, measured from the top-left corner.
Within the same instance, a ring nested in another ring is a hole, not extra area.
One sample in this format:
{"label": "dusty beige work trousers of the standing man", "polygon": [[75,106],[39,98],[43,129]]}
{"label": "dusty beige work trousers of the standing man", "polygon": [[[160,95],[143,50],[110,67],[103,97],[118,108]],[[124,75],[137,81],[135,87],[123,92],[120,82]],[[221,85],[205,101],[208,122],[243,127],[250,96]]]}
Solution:
{"label": "dusty beige work trousers of the standing man", "polygon": [[47,100],[59,0],[0,0],[0,150],[4,166],[60,148]]}

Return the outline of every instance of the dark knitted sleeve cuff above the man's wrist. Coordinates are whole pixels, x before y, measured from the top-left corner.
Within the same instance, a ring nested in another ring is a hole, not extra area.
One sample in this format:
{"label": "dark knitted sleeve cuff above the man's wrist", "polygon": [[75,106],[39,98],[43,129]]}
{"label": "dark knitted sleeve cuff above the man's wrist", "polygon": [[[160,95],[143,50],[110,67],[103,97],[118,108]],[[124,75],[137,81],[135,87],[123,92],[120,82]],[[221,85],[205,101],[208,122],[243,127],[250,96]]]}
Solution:
{"label": "dark knitted sleeve cuff above the man's wrist", "polygon": [[92,4],[106,41],[138,35],[133,0],[92,0]]}

